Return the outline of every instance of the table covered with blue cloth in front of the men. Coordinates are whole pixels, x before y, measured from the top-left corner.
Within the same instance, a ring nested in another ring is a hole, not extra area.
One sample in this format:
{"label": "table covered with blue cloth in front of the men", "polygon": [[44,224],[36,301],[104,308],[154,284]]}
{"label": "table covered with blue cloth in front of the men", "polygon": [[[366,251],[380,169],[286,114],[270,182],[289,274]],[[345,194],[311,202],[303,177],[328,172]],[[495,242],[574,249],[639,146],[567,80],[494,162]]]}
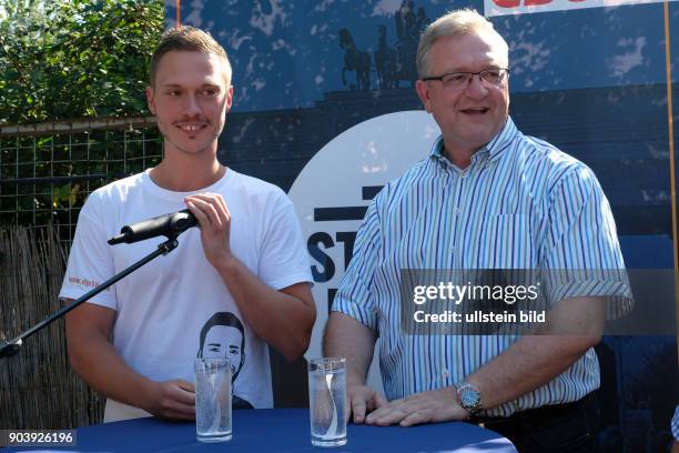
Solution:
{"label": "table covered with blue cloth in front of the men", "polygon": [[148,417],[80,427],[75,447],[12,451],[516,453],[507,439],[462,422],[412,427],[349,424],[347,439],[347,444],[341,447],[315,447],[310,442],[307,409],[260,409],[234,411],[233,439],[224,443],[197,442],[192,422]]}

